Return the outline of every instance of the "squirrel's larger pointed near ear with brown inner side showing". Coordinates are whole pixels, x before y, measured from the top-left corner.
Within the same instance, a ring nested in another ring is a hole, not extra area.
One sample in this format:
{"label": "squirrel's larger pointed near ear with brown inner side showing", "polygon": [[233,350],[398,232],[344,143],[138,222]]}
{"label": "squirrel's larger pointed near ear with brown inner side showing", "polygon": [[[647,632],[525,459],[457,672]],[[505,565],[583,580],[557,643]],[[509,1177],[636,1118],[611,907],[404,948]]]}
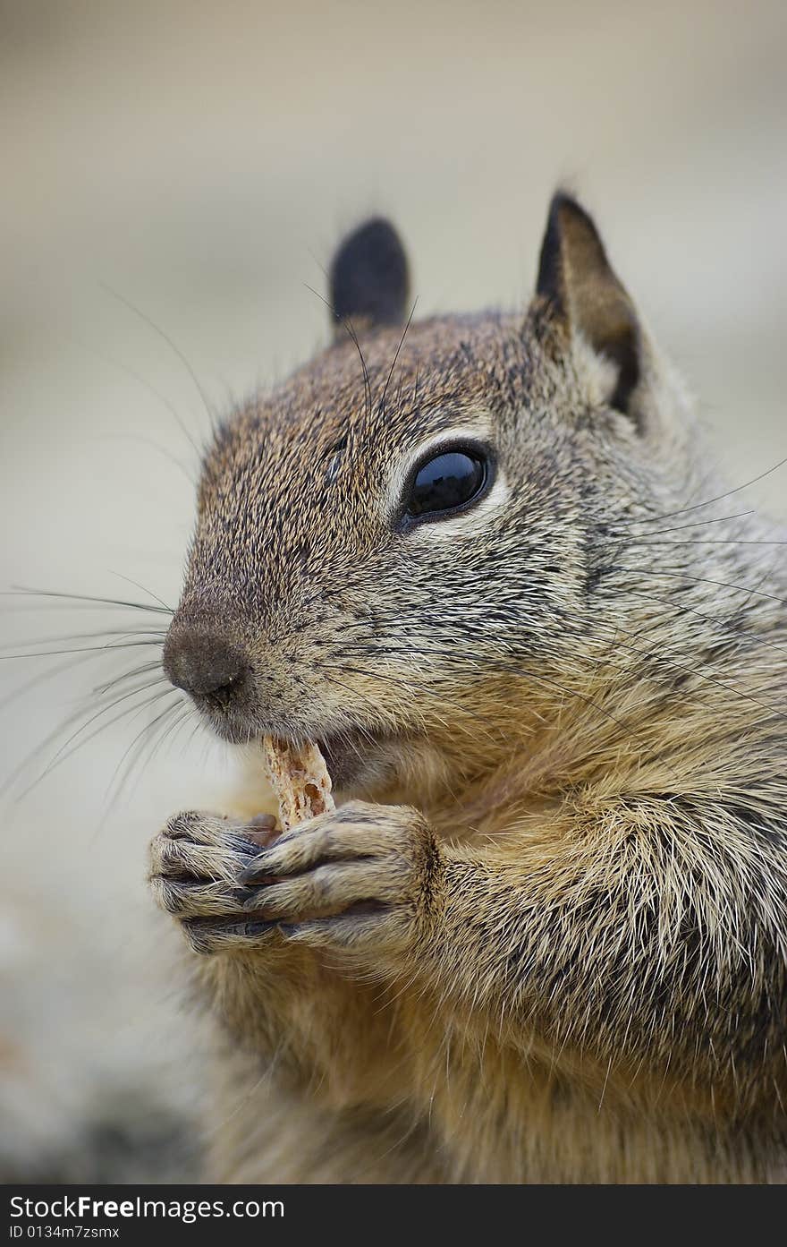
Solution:
{"label": "squirrel's larger pointed near ear with brown inner side showing", "polygon": [[609,403],[630,414],[641,370],[641,334],[634,304],[611,269],[593,219],[564,192],[558,192],[549,207],[537,292],[553,304],[569,330],[579,330],[598,354],[615,365],[616,383]]}

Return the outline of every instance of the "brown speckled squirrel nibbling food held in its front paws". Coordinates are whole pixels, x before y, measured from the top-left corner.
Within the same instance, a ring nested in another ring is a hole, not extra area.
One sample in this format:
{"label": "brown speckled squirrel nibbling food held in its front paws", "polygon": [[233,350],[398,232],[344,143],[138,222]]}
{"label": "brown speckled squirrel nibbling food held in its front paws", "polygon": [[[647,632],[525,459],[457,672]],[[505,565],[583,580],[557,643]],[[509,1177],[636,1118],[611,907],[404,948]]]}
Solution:
{"label": "brown speckled squirrel nibbling food held in its front paws", "polygon": [[209,1178],[783,1181],[778,530],[570,195],[525,312],[415,320],[382,218],[329,286],[330,345],[205,454],[163,651],[337,799],[276,835],[260,771],[152,843]]}

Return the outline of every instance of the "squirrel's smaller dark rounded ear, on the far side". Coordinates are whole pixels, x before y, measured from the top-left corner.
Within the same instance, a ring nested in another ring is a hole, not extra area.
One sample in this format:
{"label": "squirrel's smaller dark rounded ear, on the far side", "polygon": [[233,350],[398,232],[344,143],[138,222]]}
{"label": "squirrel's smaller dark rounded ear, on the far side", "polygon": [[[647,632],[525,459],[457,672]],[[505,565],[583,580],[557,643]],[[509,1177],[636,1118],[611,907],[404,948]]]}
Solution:
{"label": "squirrel's smaller dark rounded ear, on the far side", "polygon": [[356,328],[402,324],[410,274],[394,226],[375,217],[347,234],[334,256],[329,282],[336,333],[344,320]]}

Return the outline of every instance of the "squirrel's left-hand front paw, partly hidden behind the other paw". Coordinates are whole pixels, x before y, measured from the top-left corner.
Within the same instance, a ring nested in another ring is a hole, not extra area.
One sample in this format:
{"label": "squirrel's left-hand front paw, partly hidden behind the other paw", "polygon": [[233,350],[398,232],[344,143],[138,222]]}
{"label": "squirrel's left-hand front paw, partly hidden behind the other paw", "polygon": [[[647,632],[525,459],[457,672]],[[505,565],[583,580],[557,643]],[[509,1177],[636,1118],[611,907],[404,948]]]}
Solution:
{"label": "squirrel's left-hand front paw, partly hidden behind the other paw", "polygon": [[196,953],[252,951],[270,940],[275,924],[247,910],[240,875],[273,839],[274,827],[268,816],[240,823],[189,812],[171,818],[152,840],[153,897]]}

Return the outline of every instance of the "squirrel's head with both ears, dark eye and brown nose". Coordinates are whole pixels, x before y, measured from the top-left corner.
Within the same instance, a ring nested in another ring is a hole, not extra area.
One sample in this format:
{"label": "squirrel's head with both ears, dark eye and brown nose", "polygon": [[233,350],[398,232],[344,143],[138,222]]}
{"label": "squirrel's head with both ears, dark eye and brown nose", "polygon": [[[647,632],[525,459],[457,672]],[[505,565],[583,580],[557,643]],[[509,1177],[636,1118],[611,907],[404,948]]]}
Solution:
{"label": "squirrel's head with both ears, dark eye and brown nose", "polygon": [[342,242],[332,344],[205,455],[164,648],[220,736],[315,739],[360,792],[562,712],[614,643],[615,526],[687,458],[680,387],[569,196],[527,313],[416,322],[408,288],[387,222]]}

